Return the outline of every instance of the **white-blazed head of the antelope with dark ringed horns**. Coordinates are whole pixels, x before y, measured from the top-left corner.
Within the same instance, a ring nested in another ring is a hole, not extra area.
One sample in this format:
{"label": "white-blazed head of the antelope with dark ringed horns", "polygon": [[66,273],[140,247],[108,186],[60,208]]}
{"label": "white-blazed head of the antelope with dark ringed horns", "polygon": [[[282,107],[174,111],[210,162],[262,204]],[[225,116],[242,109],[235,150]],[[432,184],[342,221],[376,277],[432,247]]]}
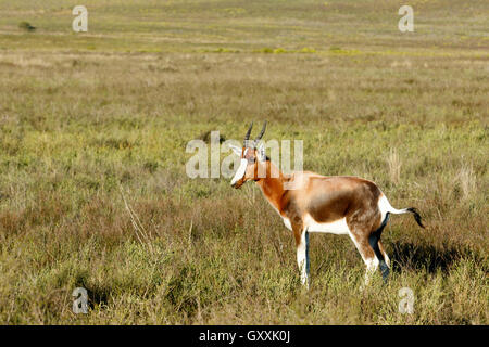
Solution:
{"label": "white-blazed head of the antelope with dark ringed horns", "polygon": [[[244,136],[242,149],[230,145],[233,151],[241,158],[238,170],[231,180],[231,185],[236,189],[240,188],[249,180],[258,181],[259,178],[263,176],[261,172],[265,171],[263,166],[263,163],[266,162],[265,146],[260,140],[265,133],[266,121],[263,124],[262,131],[260,131],[260,134],[254,140],[250,140],[252,128],[253,123],[251,123]],[[263,170],[261,170],[262,168]]]}

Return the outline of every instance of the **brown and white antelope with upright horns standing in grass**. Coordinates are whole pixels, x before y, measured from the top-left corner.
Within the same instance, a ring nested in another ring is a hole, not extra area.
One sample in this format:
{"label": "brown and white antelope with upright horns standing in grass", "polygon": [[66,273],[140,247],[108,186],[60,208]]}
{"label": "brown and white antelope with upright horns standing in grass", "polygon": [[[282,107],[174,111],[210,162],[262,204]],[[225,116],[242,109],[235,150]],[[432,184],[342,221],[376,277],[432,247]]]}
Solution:
{"label": "brown and white antelope with upright horns standing in grass", "polygon": [[254,141],[249,140],[252,127],[253,123],[248,128],[242,147],[230,145],[240,156],[240,165],[230,184],[239,189],[253,180],[285,226],[293,232],[301,283],[309,288],[310,232],[348,234],[366,266],[364,285],[369,283],[378,268],[386,282],[390,260],[380,242],[383,230],[390,214],[408,213],[414,216],[419,227],[425,228],[416,208],[393,208],[377,184],[359,177],[321,176],[311,171],[286,175],[265,155],[261,139],[266,121]]}

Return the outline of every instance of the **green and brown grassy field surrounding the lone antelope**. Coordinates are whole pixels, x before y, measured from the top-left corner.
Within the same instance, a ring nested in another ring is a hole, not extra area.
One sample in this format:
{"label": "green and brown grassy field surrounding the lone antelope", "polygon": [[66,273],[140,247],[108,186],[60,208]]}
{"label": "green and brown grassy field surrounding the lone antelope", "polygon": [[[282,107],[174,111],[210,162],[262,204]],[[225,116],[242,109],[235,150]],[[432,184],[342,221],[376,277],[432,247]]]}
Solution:
{"label": "green and brown grassy field surrounding the lone antelope", "polygon": [[[488,323],[487,1],[86,0],[76,34],[77,4],[0,0],[0,323]],[[312,234],[303,291],[253,183],[187,177],[188,141],[262,119],[421,210],[384,231],[387,285]]]}

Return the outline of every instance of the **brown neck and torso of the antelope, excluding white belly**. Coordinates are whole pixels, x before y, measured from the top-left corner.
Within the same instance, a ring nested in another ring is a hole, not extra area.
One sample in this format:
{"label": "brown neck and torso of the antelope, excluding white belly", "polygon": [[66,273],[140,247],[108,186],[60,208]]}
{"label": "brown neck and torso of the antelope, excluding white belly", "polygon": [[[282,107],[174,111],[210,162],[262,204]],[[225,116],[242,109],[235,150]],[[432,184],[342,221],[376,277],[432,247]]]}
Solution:
{"label": "brown neck and torso of the antelope, excluding white belly", "polygon": [[[374,182],[358,177],[325,177],[309,171],[290,176],[278,172],[277,178],[272,178],[278,169],[269,160],[265,165],[267,176],[255,181],[272,206],[290,221],[297,245],[308,227],[304,216],[310,215],[317,223],[331,223],[346,218],[362,258],[374,257],[368,237],[381,224],[378,202],[383,195]],[[293,189],[284,190],[285,182],[293,182]]]}

